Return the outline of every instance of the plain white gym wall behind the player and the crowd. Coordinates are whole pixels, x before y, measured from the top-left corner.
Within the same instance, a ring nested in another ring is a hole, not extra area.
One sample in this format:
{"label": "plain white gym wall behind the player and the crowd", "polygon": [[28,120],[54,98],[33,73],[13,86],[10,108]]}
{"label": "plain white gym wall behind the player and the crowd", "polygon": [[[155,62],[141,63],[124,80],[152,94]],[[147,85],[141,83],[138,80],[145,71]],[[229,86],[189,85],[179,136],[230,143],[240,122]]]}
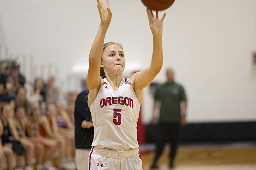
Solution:
{"label": "plain white gym wall behind the player and the crowd", "polygon": [[[121,42],[126,63],[144,68],[152,53],[146,8],[140,0],[110,0],[110,8],[106,41]],[[256,120],[255,9],[255,0],[176,0],[165,11],[164,64],[155,81],[164,82],[167,66],[175,69],[189,122]],[[96,0],[0,0],[0,13],[9,51],[57,64],[61,78],[87,62],[100,22]],[[144,122],[151,102],[145,94]]]}

